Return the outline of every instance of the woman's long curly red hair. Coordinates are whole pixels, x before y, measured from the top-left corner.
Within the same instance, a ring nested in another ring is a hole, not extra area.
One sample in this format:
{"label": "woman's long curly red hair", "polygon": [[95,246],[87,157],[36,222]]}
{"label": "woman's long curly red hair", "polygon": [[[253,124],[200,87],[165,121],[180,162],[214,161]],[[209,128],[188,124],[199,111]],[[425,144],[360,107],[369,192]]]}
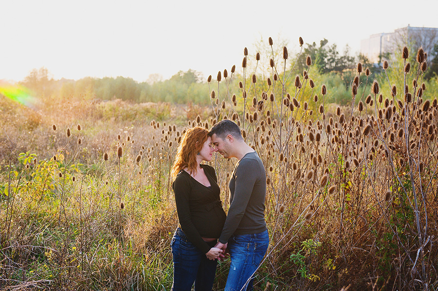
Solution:
{"label": "woman's long curly red hair", "polygon": [[198,154],[204,142],[208,138],[208,130],[200,126],[192,127],[183,135],[178,146],[175,162],[172,167],[172,177],[176,177],[179,171],[188,168],[195,173],[198,167],[196,154]]}

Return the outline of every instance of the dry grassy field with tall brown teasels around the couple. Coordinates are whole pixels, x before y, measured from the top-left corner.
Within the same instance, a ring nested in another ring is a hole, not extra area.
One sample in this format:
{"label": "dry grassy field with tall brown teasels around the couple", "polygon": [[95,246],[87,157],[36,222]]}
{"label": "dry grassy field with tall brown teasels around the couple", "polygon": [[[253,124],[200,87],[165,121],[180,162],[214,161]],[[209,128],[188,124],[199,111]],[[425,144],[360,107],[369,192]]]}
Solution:
{"label": "dry grassy field with tall brown teasels around the couple", "polygon": [[[62,97],[35,110],[0,96],[0,289],[169,290],[179,139],[228,118],[267,171],[256,290],[437,290],[437,84],[422,81],[424,53],[401,52],[379,82],[359,64],[343,106],[310,57],[302,73],[282,56],[261,78],[245,54],[242,74],[209,78],[205,106]],[[225,209],[235,162],[211,161]]]}

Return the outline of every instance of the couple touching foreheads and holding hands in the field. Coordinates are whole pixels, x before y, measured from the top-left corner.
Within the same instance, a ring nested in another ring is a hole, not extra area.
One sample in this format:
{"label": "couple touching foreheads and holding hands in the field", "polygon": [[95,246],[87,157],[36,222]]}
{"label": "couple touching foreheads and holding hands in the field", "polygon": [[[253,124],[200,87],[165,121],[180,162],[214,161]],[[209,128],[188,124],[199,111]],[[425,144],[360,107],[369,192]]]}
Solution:
{"label": "couple touching foreheads and holding hands in the field", "polygon": [[[228,216],[210,161],[213,152],[235,157],[230,178]],[[180,227],[171,240],[173,291],[211,291],[218,258],[230,253],[225,291],[252,290],[249,280],[269,245],[264,218],[266,172],[253,148],[243,140],[237,124],[222,120],[210,131],[193,127],[178,147],[172,174]]]}

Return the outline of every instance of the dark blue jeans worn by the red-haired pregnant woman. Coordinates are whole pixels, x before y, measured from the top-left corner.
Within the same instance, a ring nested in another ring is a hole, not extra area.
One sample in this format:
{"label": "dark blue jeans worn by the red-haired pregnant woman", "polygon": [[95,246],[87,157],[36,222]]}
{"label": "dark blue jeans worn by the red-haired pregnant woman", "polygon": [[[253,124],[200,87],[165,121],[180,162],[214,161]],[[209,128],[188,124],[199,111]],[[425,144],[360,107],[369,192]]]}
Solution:
{"label": "dark blue jeans worn by the red-haired pregnant woman", "polygon": [[[207,242],[212,247],[216,241]],[[170,242],[173,255],[173,284],[171,291],[211,291],[215,280],[217,260],[209,260],[177,229]]]}

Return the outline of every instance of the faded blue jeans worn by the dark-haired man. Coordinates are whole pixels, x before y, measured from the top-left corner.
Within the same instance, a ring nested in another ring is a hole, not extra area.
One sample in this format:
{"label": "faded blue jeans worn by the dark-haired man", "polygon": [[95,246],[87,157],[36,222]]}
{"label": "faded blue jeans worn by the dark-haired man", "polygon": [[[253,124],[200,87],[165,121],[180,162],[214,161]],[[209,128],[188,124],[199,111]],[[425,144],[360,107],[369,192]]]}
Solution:
{"label": "faded blue jeans worn by the dark-haired man", "polygon": [[[232,236],[228,240],[231,264],[225,291],[253,290],[253,273],[269,246],[268,230],[251,235]],[[251,278],[251,279],[250,279]]]}

